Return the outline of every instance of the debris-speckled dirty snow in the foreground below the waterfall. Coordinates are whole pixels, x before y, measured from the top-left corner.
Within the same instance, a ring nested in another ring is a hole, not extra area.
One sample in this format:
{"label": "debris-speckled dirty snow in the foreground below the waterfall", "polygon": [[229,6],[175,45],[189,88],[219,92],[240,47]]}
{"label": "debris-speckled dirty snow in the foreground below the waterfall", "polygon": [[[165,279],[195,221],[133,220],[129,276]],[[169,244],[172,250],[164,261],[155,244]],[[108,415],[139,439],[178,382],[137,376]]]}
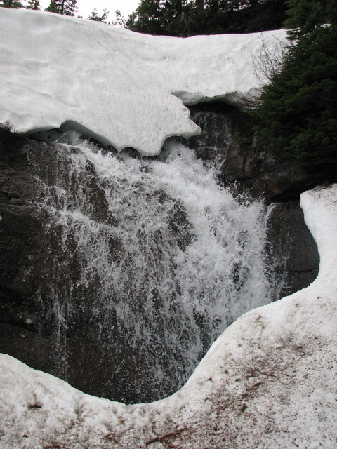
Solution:
{"label": "debris-speckled dirty snow in the foreground below the waterfall", "polygon": [[125,406],[1,354],[1,448],[336,448],[336,198],[301,196],[317,279],[235,321],[169,398]]}

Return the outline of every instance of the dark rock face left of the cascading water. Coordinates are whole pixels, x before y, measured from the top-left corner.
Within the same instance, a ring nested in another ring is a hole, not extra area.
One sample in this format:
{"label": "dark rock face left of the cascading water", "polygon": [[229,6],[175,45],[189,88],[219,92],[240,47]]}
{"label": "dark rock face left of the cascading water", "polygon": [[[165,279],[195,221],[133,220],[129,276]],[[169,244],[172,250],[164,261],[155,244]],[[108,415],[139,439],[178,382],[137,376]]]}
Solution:
{"label": "dark rock face left of the cascading water", "polygon": [[44,317],[32,300],[43,276],[36,270],[42,257],[44,217],[37,215],[32,202],[38,186],[27,164],[30,147],[25,138],[1,130],[0,341],[1,351],[48,371],[53,342],[36,332]]}

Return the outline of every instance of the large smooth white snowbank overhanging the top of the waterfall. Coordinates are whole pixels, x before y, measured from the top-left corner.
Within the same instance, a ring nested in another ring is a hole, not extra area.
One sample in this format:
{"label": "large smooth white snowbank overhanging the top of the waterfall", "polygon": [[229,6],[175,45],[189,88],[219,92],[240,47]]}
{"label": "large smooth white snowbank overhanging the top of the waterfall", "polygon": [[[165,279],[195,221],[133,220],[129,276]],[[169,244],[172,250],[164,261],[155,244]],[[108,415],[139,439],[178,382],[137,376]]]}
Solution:
{"label": "large smooth white snowbank overhanging the top of the waterfall", "polygon": [[76,128],[119,151],[158,154],[200,132],[185,105],[240,102],[259,87],[254,59],[284,31],[145,36],[46,12],[0,8],[0,123],[20,133]]}

